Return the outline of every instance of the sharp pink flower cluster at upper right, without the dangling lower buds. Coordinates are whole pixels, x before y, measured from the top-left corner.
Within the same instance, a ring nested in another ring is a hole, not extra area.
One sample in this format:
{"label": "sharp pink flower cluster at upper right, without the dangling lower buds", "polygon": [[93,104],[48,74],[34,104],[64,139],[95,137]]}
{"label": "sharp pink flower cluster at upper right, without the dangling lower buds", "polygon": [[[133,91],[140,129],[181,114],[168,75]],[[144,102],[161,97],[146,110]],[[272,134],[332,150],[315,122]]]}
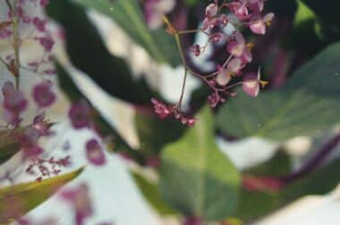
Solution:
{"label": "sharp pink flower cluster at upper right, without the dangling lower buds", "polygon": [[[230,13],[221,13],[223,9],[228,9]],[[242,85],[245,93],[256,97],[259,94],[260,86],[267,84],[260,80],[259,71],[258,74],[245,74],[242,82],[228,85],[234,77],[242,76],[242,69],[251,63],[253,45],[247,43],[242,33],[237,29],[231,36],[223,32],[223,29],[230,23],[234,28],[241,24],[249,27],[255,34],[265,34],[267,26],[273,20],[274,13],[262,16],[263,9],[264,0],[234,0],[228,3],[225,1],[221,5],[215,1],[215,3],[208,4],[200,31],[208,35],[208,42],[226,42],[225,51],[228,55],[223,65],[217,65],[216,72],[207,76],[199,75],[213,90],[213,93],[208,96],[211,107],[215,108],[219,102],[225,102],[225,96],[233,97],[235,93],[229,90],[234,86]],[[207,45],[208,43],[204,47],[194,45],[191,47],[192,54],[200,56],[201,50],[204,50]]]}

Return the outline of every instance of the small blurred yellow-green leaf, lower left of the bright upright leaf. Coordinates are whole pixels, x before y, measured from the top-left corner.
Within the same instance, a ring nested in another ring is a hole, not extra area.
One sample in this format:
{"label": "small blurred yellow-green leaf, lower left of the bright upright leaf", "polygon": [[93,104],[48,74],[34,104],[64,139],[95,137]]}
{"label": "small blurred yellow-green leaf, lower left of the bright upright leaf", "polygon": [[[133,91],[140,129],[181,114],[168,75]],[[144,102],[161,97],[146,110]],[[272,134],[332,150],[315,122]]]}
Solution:
{"label": "small blurred yellow-green leaf, lower left of the bright upright leaf", "polygon": [[149,182],[146,178],[137,173],[132,173],[134,181],[140,189],[140,192],[148,200],[148,202],[162,215],[177,214],[174,209],[168,206],[159,194],[157,185]]}

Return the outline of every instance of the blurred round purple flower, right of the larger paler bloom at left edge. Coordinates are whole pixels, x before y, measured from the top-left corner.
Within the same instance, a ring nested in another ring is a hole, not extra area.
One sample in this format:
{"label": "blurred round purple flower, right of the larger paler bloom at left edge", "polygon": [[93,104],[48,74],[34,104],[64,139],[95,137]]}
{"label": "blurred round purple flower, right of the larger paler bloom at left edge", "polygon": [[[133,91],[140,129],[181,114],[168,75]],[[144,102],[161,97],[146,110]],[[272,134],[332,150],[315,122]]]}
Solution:
{"label": "blurred round purple flower, right of the larger paler bloom at left edge", "polygon": [[49,107],[55,102],[55,93],[51,88],[51,82],[41,82],[33,88],[33,99],[39,108]]}

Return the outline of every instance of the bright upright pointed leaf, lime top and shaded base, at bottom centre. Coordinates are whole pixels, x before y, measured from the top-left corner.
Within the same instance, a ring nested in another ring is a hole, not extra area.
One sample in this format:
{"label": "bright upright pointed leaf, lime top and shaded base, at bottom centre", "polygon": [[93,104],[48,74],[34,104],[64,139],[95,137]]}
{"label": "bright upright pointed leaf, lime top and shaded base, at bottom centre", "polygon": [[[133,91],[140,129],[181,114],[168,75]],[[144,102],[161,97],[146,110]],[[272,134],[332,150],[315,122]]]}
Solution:
{"label": "bright upright pointed leaf, lime top and shaded base, at bottom centre", "polygon": [[238,171],[217,148],[213,116],[206,107],[197,124],[162,151],[161,195],[183,214],[218,221],[234,211],[239,185]]}

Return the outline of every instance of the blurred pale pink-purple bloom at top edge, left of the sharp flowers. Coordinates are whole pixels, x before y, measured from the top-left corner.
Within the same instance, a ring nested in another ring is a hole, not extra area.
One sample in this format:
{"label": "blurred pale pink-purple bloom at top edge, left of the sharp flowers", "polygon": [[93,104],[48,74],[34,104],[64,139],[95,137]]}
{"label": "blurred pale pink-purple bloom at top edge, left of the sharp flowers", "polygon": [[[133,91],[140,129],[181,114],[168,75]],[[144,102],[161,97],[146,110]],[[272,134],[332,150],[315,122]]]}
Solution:
{"label": "blurred pale pink-purple bloom at top edge, left of the sharp flowers", "polygon": [[145,0],[144,18],[149,29],[156,30],[162,24],[162,15],[174,9],[174,0]]}

